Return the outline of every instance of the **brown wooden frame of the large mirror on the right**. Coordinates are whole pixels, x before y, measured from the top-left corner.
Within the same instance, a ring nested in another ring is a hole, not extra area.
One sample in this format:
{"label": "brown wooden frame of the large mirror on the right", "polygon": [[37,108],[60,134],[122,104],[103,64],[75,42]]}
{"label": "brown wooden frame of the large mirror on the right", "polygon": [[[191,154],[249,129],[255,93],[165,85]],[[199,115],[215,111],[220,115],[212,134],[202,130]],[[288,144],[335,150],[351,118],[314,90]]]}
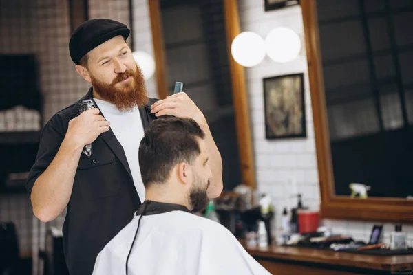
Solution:
{"label": "brown wooden frame of the large mirror on the right", "polygon": [[352,199],[335,195],[316,1],[301,1],[301,12],[313,109],[321,216],[330,219],[413,223],[412,200],[392,197]]}

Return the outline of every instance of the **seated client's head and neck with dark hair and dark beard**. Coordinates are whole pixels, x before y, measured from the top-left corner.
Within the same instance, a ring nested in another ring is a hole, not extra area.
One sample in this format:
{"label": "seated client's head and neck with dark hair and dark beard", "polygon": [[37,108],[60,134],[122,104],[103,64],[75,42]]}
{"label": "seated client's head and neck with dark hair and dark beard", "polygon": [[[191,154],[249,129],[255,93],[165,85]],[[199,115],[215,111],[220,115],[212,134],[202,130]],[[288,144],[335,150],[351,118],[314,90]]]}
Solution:
{"label": "seated client's head and neck with dark hair and dark beard", "polygon": [[204,131],[189,118],[151,122],[139,147],[147,200],[183,204],[193,212],[204,210],[212,175],[204,137]]}

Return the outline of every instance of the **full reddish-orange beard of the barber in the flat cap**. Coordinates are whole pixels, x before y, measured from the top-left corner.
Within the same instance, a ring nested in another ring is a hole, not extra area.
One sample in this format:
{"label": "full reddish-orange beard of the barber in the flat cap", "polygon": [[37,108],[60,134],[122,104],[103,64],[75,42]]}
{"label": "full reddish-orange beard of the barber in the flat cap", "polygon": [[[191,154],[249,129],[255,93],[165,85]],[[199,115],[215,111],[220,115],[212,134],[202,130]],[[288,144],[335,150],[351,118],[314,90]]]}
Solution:
{"label": "full reddish-orange beard of the barber in the flat cap", "polygon": [[[127,83],[120,83],[128,76]],[[136,70],[127,69],[123,74],[118,74],[112,83],[107,84],[92,78],[94,91],[105,101],[114,104],[119,111],[130,111],[134,107],[143,107],[149,100],[145,87],[145,78],[136,66]]]}

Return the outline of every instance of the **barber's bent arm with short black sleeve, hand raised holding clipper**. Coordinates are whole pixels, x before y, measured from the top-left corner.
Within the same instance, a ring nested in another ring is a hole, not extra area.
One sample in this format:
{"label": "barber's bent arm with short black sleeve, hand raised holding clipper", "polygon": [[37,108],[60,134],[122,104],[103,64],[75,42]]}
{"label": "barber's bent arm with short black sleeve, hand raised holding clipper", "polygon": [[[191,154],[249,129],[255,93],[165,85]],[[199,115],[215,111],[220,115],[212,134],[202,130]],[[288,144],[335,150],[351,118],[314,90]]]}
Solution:
{"label": "barber's bent arm with short black sleeve, hand raised holding clipper", "polygon": [[27,183],[38,219],[52,221],[63,212],[72,194],[83,147],[106,131],[109,131],[109,122],[99,115],[98,109],[90,109],[70,120],[65,136],[52,122],[46,124]]}

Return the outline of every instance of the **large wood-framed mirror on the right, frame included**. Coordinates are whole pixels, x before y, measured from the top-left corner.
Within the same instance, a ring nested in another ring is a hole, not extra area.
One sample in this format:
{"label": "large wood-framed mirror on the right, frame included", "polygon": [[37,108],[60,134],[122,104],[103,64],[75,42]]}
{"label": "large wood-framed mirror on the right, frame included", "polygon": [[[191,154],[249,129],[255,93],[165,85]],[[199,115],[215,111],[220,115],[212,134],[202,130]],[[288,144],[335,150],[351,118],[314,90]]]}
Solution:
{"label": "large wood-framed mirror on the right, frame included", "polygon": [[412,1],[301,7],[321,213],[413,222]]}

